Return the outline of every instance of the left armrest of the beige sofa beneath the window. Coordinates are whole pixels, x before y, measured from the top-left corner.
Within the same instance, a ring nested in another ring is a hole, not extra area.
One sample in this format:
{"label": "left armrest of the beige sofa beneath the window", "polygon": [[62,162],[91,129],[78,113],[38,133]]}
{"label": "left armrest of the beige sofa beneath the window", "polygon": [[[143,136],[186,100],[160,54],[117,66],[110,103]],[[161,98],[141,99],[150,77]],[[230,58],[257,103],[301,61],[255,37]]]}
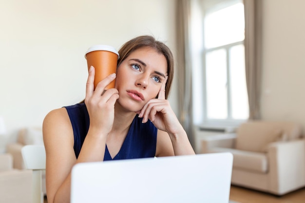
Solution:
{"label": "left armrest of the beige sofa beneath the window", "polygon": [[234,148],[236,133],[211,135],[201,141],[201,153],[208,153],[210,148]]}

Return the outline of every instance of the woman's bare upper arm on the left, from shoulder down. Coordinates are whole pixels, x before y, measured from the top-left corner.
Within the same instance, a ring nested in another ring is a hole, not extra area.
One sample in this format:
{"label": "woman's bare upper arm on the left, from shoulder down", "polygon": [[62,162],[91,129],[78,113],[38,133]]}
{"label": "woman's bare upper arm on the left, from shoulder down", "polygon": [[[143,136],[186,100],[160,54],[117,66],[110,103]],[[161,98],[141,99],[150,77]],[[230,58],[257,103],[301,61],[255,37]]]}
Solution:
{"label": "woman's bare upper arm on the left, from shoulder down", "polygon": [[[73,129],[65,109],[51,111],[45,117],[43,142],[46,149],[48,202],[54,203],[56,196],[69,202],[70,172],[76,164],[76,156],[73,149]],[[64,194],[64,197],[61,194]]]}

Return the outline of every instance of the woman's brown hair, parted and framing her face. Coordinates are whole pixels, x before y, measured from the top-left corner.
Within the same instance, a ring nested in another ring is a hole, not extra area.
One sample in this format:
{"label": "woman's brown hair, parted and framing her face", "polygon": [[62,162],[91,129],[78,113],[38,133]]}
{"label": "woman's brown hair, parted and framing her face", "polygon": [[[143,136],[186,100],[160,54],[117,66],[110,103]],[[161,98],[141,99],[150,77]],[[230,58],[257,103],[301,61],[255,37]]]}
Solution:
{"label": "woman's brown hair, parted and framing her face", "polygon": [[145,47],[154,49],[166,58],[168,79],[165,85],[165,98],[168,98],[173,79],[173,56],[171,50],[163,42],[157,41],[152,36],[139,36],[129,40],[118,51],[120,58],[117,60],[117,67],[135,50]]}

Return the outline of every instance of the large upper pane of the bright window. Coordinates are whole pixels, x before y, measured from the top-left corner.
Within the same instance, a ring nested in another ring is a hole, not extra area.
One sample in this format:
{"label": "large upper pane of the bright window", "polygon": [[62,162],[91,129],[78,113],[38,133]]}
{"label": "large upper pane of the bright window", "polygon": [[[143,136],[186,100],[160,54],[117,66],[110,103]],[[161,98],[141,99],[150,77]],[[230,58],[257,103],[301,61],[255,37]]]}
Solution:
{"label": "large upper pane of the bright window", "polygon": [[204,30],[206,48],[244,40],[244,4],[237,3],[208,14],[204,21]]}

